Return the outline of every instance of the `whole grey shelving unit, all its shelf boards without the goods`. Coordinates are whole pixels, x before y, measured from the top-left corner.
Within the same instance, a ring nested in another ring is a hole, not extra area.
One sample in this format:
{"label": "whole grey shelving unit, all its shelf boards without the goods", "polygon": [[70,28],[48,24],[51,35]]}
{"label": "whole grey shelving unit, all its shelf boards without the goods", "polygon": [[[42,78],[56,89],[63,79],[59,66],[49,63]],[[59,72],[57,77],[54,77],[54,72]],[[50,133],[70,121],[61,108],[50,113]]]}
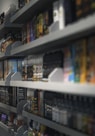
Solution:
{"label": "whole grey shelving unit, all its shelf boards without the goods", "polygon": [[[18,30],[22,27],[22,24],[29,21],[35,14],[42,11],[42,7],[45,9],[54,0],[31,0],[30,3],[26,4],[23,8],[17,11],[10,20],[10,23],[4,23],[0,26],[0,38],[6,34],[9,30]],[[30,14],[31,13],[31,14]],[[18,23],[18,24],[13,24]],[[64,45],[71,43],[74,40],[80,39],[85,36],[95,34],[95,13],[89,15],[73,24],[66,26],[63,30],[56,30],[49,34],[38,38],[30,43],[10,48],[8,54],[0,54],[0,59],[11,56],[27,56],[32,54],[45,53],[53,49],[62,49]],[[60,92],[73,95],[91,96],[95,97],[95,85],[94,84],[79,84],[79,83],[64,83],[54,81],[18,81],[17,76],[12,77],[13,73],[10,74],[8,80],[0,81],[0,86],[11,86],[11,87],[24,87],[32,89],[41,89],[43,91],[48,90],[52,92]],[[19,75],[19,73],[18,73]],[[11,78],[12,77],[12,78]],[[20,75],[19,75],[20,77]],[[12,80],[13,81],[12,81]],[[21,78],[20,78],[21,80]],[[17,108],[0,103],[0,107],[5,110],[17,113]],[[22,111],[21,111],[22,112]],[[28,120],[37,121],[43,125],[46,125],[52,129],[55,129],[61,133],[65,133],[70,136],[88,136],[77,130],[68,128],[60,125],[56,122],[50,121],[43,117],[22,112],[22,115]],[[0,129],[5,129],[8,132],[9,128],[0,122]]]}

